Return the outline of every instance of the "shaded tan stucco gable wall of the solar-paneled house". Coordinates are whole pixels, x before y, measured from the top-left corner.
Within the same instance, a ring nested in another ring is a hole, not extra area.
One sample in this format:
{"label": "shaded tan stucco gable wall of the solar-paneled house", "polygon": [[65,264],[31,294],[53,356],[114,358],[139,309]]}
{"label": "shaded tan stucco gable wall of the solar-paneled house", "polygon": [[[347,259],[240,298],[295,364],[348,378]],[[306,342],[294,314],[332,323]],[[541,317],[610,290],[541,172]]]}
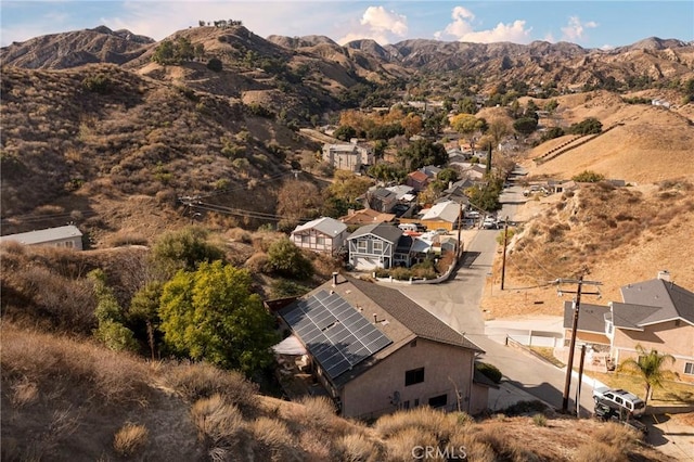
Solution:
{"label": "shaded tan stucco gable wall of the solar-paneled house", "polygon": [[[428,403],[429,398],[447,394],[448,409],[457,409],[455,388],[461,398],[461,408],[468,411],[468,397],[472,388],[473,351],[446,344],[417,338],[416,346],[409,344],[393,352],[378,364],[349,382],[342,390],[343,415],[347,418],[374,418],[394,412],[390,405],[394,392],[400,393],[401,407]],[[406,371],[424,368],[424,382],[404,386]],[[484,387],[478,400],[487,406]],[[475,398],[473,398],[473,402]]]}

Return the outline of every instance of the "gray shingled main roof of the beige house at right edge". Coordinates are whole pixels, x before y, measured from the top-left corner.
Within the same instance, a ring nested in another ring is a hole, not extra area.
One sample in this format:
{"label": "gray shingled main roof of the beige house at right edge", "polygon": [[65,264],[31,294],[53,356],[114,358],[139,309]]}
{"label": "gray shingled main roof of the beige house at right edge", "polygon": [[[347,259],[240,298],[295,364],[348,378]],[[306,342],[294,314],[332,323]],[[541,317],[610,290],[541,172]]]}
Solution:
{"label": "gray shingled main roof of the beige house at right edge", "polygon": [[639,326],[672,319],[682,319],[694,324],[694,293],[671,281],[652,279],[625,285],[621,287],[621,298],[625,305],[659,308],[643,318],[641,310],[633,315],[625,311],[622,316]]}

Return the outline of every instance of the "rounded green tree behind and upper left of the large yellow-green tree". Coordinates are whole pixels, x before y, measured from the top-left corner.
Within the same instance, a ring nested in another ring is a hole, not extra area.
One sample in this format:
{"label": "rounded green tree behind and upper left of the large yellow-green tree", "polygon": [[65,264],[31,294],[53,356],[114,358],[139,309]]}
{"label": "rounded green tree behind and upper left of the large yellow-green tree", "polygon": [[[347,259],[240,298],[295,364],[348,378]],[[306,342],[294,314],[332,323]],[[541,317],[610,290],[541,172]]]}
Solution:
{"label": "rounded green tree behind and upper left of the large yellow-green tree", "polygon": [[188,227],[164,234],[152,249],[154,262],[163,270],[194,270],[203,261],[223,260],[224,253],[207,242],[207,231],[200,227]]}

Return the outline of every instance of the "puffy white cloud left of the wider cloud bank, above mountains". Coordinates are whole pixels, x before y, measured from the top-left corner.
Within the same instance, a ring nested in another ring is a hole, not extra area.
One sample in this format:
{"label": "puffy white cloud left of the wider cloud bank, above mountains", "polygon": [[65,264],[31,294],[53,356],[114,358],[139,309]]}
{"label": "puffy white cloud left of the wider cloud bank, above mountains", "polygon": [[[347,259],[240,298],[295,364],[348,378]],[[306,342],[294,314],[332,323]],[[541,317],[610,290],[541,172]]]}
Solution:
{"label": "puffy white cloud left of the wider cloud bank, above mountains", "polygon": [[407,16],[387,11],[383,7],[369,7],[359,20],[359,24],[352,24],[349,31],[336,41],[345,44],[352,40],[372,39],[380,44],[386,44],[394,39],[406,37],[408,30]]}

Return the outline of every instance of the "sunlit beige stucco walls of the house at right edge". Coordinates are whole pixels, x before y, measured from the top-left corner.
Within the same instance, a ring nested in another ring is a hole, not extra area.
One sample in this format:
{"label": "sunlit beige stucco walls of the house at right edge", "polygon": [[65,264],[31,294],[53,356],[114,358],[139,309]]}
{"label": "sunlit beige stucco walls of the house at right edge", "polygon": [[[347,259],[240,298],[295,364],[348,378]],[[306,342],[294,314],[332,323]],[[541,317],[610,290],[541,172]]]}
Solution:
{"label": "sunlit beige stucco walls of the house at right edge", "polygon": [[694,376],[684,375],[684,363],[694,362],[694,325],[680,321],[661,322],[645,328],[644,332],[615,329],[613,342],[613,358],[621,362],[627,358],[635,358],[637,344],[646,351],[655,349],[658,352],[672,355],[676,359],[668,369],[680,374],[682,380],[694,382]]}

